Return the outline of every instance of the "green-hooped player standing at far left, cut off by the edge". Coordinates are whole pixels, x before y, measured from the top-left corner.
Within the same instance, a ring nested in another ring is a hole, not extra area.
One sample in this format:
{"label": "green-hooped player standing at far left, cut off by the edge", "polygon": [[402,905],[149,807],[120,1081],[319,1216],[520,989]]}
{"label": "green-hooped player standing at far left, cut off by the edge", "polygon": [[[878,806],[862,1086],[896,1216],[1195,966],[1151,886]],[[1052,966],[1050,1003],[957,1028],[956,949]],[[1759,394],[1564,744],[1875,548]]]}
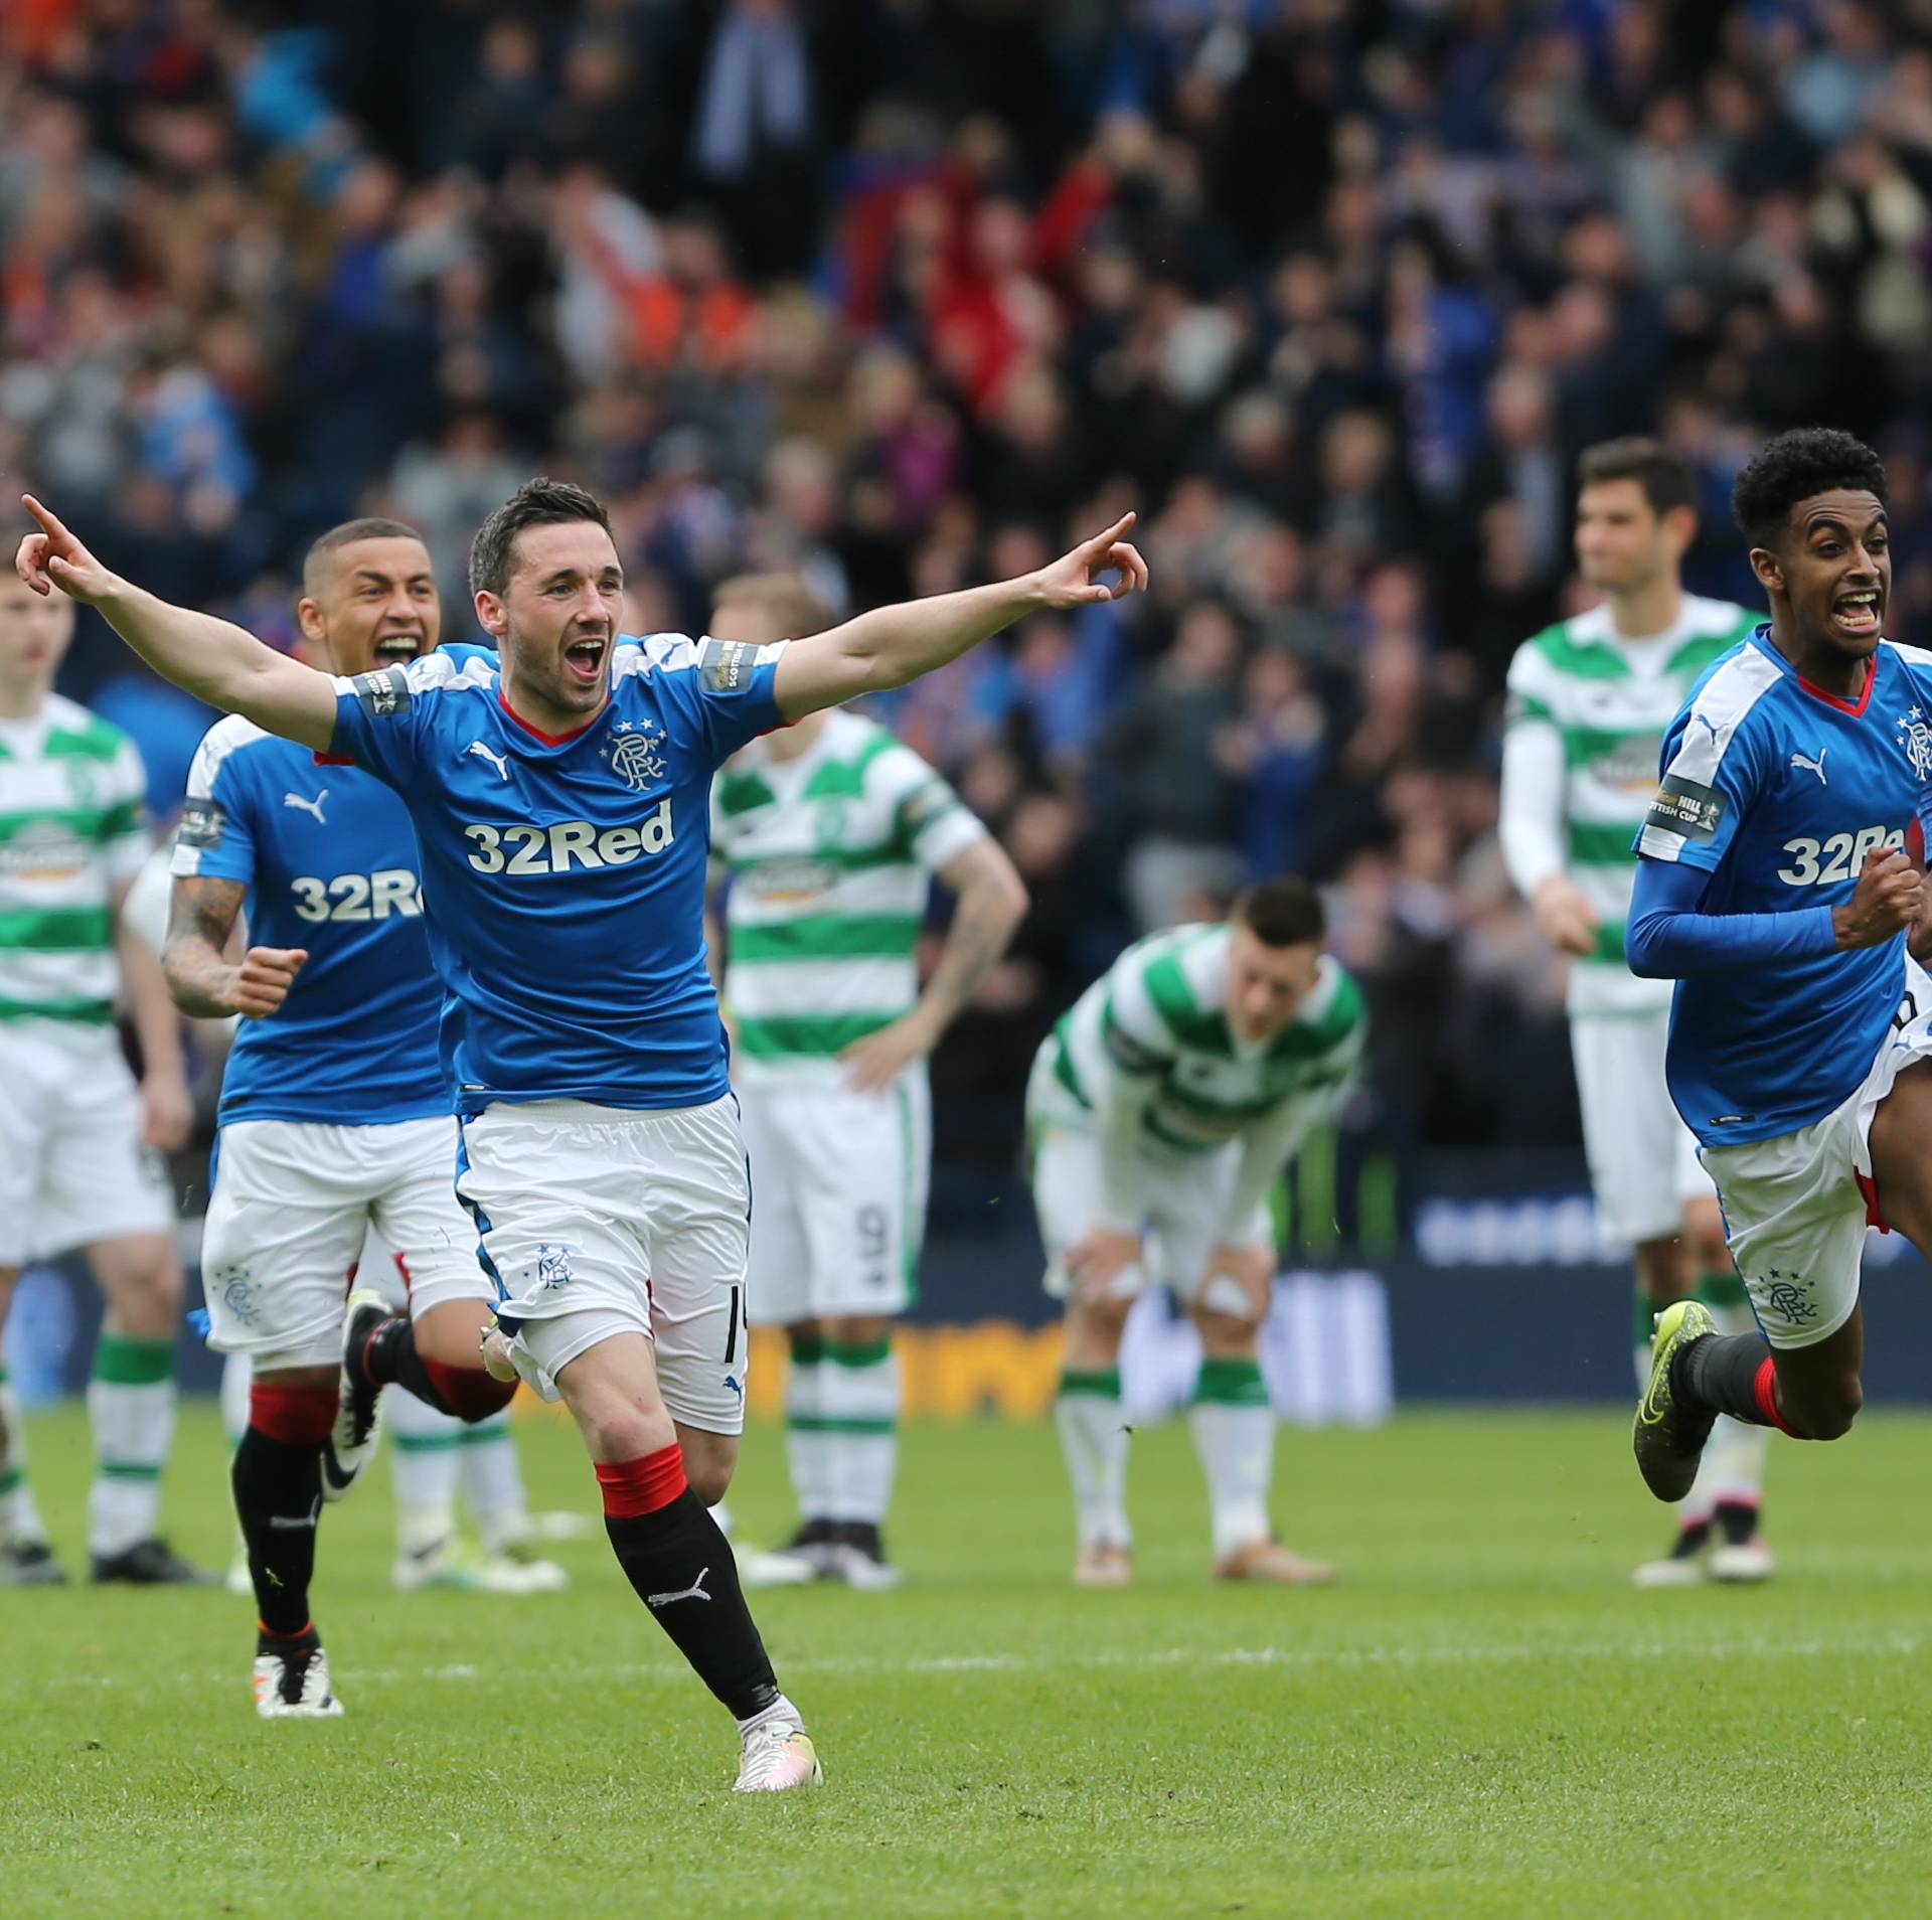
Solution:
{"label": "green-hooped player standing at far left, cut off by the edge", "polygon": [[[0,581],[0,1325],[19,1269],[85,1246],[106,1298],[87,1410],[95,1580],[207,1576],[155,1532],[174,1439],[182,1267],[156,1151],[187,1138],[182,1030],[160,968],[120,925],[147,858],[141,757],[54,693],[73,605]],[[128,1004],[135,1087],[114,1028]],[[64,1574],[27,1485],[19,1397],[0,1368],[0,1584]]]}

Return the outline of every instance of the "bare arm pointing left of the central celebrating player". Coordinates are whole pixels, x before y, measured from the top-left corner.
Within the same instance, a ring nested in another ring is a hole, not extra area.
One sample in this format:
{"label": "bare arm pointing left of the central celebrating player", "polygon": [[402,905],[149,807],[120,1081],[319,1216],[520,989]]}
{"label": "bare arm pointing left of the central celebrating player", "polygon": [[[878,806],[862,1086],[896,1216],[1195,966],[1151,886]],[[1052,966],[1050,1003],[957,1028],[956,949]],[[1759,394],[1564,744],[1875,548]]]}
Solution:
{"label": "bare arm pointing left of the central celebrating player", "polygon": [[58,587],[100,616],[164,680],[224,713],[240,713],[270,734],[323,751],[336,730],[328,674],[303,666],[253,634],[213,614],[155,599],[108,572],[33,494],[23,496],[41,523],[14,554],[14,570],[46,595]]}

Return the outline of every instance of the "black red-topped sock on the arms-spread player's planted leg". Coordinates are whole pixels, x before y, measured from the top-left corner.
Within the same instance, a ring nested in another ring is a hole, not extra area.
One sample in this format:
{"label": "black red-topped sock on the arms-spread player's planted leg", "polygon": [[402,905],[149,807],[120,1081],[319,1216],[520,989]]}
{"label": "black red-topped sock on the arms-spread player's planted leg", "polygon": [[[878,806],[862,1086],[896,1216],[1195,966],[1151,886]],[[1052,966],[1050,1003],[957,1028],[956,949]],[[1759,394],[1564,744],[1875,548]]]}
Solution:
{"label": "black red-topped sock on the arms-spread player's planted leg", "polygon": [[599,1462],[597,1480],[611,1549],[651,1619],[734,1719],[763,1713],[779,1682],[744,1603],[730,1541],[686,1483],[680,1451]]}

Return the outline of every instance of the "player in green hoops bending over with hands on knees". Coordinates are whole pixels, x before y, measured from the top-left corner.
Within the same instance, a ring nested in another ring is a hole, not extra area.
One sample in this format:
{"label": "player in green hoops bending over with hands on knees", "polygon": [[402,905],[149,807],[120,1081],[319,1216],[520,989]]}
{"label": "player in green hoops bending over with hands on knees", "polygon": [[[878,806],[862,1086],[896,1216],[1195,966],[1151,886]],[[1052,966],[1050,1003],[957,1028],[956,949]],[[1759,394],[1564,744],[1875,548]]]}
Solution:
{"label": "player in green hoops bending over with hands on knees", "polygon": [[1215,1574],[1333,1578],[1269,1524],[1275,1412],[1258,1358],[1275,1281],[1269,1188],[1347,1093],[1368,1031],[1323,935],[1306,881],[1252,887],[1223,923],[1128,946],[1034,1060],[1034,1203],[1047,1292],[1066,1302],[1055,1412],[1082,1586],[1132,1576],[1121,1331],[1148,1281],[1175,1290],[1202,1337],[1190,1426]]}

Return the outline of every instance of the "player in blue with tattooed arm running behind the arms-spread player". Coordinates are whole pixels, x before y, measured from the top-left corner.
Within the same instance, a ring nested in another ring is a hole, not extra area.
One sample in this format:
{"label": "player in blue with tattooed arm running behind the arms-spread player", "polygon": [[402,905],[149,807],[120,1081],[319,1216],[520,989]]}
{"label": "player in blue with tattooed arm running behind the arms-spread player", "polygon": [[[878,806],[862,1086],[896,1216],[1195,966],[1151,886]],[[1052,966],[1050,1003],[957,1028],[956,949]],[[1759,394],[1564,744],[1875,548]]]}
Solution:
{"label": "player in blue with tattooed arm running behind the arms-spread player", "polygon": [[[429,657],[442,612],[419,535],[394,520],[325,533],[298,618],[303,659],[342,672]],[[243,904],[253,945],[230,960]],[[456,1122],[421,916],[415,834],[386,786],[240,715],[209,728],[162,964],[184,1012],[243,1016],[222,1078],[203,1290],[209,1344],[253,1362],[232,1480],[265,1719],[342,1711],[309,1582],[323,1501],[367,1458],[334,1429],[344,1294],[371,1228],[410,1288],[410,1385],[468,1420],[500,1416],[514,1393],[475,1352],[491,1288],[450,1192]]]}

